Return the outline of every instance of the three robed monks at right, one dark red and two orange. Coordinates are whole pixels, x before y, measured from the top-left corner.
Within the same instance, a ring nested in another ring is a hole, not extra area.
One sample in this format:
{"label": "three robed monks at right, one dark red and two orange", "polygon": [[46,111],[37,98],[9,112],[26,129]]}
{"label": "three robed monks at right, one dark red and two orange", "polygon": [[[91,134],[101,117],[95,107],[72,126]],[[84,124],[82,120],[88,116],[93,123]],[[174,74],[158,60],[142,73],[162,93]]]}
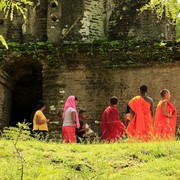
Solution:
{"label": "three robed monks at right, one dark red and two orange", "polygon": [[118,115],[118,99],[112,97],[101,120],[101,138],[114,142],[127,134],[130,141],[173,140],[176,132],[176,108],[170,103],[170,91],[160,92],[161,100],[153,113],[153,100],[147,96],[148,87],[140,87],[140,95],[127,105],[124,124]]}

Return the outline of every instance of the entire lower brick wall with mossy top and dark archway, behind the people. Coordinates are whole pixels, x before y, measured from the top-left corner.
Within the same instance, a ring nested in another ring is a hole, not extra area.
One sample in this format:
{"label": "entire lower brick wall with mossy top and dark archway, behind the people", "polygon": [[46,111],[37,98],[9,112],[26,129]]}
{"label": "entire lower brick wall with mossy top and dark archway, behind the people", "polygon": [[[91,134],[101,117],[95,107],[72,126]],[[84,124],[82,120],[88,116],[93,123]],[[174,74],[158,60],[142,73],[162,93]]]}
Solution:
{"label": "entire lower brick wall with mossy top and dark archway, behind the people", "polygon": [[11,118],[11,124],[16,124],[24,112],[31,115],[33,102],[43,96],[47,101],[45,113],[51,119],[50,131],[58,137],[62,108],[69,95],[76,95],[79,108],[87,109],[87,120],[96,132],[99,125],[95,121],[100,121],[109,98],[119,97],[123,119],[128,101],[137,95],[141,84],[149,85],[149,95],[155,104],[160,100],[159,91],[170,89],[172,102],[178,112],[180,110],[178,42],[111,41],[63,43],[58,47],[49,43],[13,44],[8,51],[1,49],[1,55],[0,65],[16,83],[11,86],[12,80],[1,72],[0,114],[1,119],[6,119],[6,125],[10,124],[12,87],[15,93],[13,117],[18,117]]}

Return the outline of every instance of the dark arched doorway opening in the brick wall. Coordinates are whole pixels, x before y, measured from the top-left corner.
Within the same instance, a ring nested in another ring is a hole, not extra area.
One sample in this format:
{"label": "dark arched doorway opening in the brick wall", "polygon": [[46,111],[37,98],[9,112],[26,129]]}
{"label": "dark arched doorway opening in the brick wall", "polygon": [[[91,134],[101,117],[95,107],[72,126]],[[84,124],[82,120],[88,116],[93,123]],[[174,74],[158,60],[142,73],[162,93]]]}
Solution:
{"label": "dark arched doorway opening in the brick wall", "polygon": [[6,72],[14,79],[10,126],[31,122],[36,102],[43,96],[42,68],[41,62],[27,59],[6,65]]}

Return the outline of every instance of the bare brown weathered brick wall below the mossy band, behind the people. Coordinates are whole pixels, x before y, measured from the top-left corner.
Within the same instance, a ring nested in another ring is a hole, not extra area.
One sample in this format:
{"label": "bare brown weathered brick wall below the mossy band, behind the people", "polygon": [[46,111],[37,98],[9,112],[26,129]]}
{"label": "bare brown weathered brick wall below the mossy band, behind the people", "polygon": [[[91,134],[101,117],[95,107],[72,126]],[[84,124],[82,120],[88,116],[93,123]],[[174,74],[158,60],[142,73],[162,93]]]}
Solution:
{"label": "bare brown weathered brick wall below the mossy band, behind the people", "polygon": [[[50,124],[51,132],[54,132],[57,136],[60,134],[62,109],[68,96],[75,95],[78,97],[79,108],[87,110],[87,120],[92,128],[98,132],[99,125],[95,124],[95,121],[100,121],[103,110],[109,105],[110,97],[116,95],[119,98],[119,112],[121,119],[123,119],[127,103],[138,94],[139,86],[142,84],[149,86],[149,96],[154,99],[155,105],[161,99],[159,95],[161,89],[168,88],[171,91],[171,101],[178,110],[178,124],[180,124],[179,62],[164,64],[157,62],[154,64],[146,63],[122,66],[116,63],[109,65],[107,59],[100,57],[101,55],[88,56],[83,53],[66,57],[66,60],[57,57],[61,63],[56,69],[48,67],[44,63],[42,72],[43,97],[47,101],[46,115],[52,122]],[[23,63],[25,64],[23,65]],[[36,67],[30,66],[26,61],[21,64],[22,66],[17,66],[18,71],[15,64],[13,65],[14,71],[12,70],[11,75],[17,75],[17,72],[22,71],[24,76],[26,71],[31,72],[31,67]],[[30,74],[33,75],[33,72]],[[17,77],[20,78],[20,75]],[[21,83],[24,83],[25,86],[28,84],[26,82],[27,79],[30,84],[33,84],[35,81],[24,76]],[[12,83],[12,79],[7,74],[1,72],[0,122],[5,122],[4,124],[6,125],[10,123]],[[22,95],[27,97],[27,99],[24,99],[25,101],[31,102],[32,97],[34,97],[34,91],[37,91],[34,86],[27,86],[29,89],[25,90],[23,90],[25,88],[23,84],[19,87],[22,87],[22,91],[16,89],[17,92],[21,92],[17,94],[19,101],[21,101]],[[16,103],[18,105],[18,102]]]}

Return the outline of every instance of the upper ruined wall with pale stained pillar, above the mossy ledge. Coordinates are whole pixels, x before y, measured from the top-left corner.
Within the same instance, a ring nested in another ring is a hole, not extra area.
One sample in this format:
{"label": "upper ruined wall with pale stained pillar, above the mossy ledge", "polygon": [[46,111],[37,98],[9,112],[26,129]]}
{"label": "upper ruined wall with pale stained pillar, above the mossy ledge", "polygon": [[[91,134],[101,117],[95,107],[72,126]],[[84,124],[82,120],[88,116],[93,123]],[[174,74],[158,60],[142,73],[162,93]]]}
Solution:
{"label": "upper ruined wall with pale stained pillar, above the mossy ledge", "polygon": [[102,39],[175,40],[175,26],[167,18],[157,22],[155,13],[139,14],[146,4],[119,0],[34,0],[27,19],[19,13],[13,21],[0,14],[0,32],[16,42],[93,41]]}

